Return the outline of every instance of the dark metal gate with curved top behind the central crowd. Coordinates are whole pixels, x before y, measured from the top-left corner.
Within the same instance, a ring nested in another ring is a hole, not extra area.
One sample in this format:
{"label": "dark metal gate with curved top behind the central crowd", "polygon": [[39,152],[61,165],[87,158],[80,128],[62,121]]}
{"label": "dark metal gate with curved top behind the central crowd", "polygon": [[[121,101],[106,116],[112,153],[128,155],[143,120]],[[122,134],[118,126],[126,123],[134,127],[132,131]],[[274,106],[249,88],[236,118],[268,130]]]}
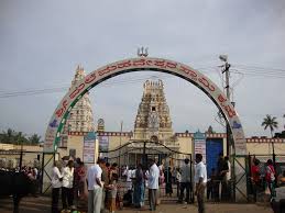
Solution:
{"label": "dark metal gate with curved top behind the central crowd", "polygon": [[[167,150],[167,152],[166,152]],[[144,165],[144,168],[147,168],[149,159],[155,159],[157,166],[164,162],[164,167],[171,167],[172,170],[179,168],[183,164],[185,158],[190,160],[190,202],[194,202],[194,183],[193,183],[193,156],[191,154],[180,153],[178,150],[174,150],[167,147],[164,144],[158,142],[151,142],[151,141],[133,141],[123,144],[121,147],[118,147],[112,150],[102,152],[101,156],[106,157],[107,161],[110,164],[117,162],[119,164],[119,170],[122,175],[122,170],[128,165],[129,168],[134,169],[138,162]],[[174,179],[175,180],[175,179]],[[125,180],[124,180],[125,181]],[[125,188],[122,188],[123,192],[127,191]],[[164,201],[177,201],[177,197],[175,195],[177,192],[177,184],[176,182],[173,183],[173,198],[165,197],[165,186],[160,186],[160,198]],[[147,197],[145,197],[147,200]]]}

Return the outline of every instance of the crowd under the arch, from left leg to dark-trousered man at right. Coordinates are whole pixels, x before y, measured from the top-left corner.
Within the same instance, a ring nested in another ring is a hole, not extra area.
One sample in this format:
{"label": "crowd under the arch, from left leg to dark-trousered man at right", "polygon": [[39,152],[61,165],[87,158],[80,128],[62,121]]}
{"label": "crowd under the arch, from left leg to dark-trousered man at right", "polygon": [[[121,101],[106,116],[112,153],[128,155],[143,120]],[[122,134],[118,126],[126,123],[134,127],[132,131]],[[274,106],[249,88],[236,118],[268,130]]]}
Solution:
{"label": "crowd under the arch, from left leg to dark-trousered man at right", "polygon": [[[207,170],[200,154],[196,155],[196,162],[195,194],[199,206],[198,212],[204,213]],[[184,160],[180,169],[164,168],[164,165],[157,166],[154,159],[149,159],[147,167],[138,164],[135,168],[125,167],[121,173],[117,164],[110,165],[105,159],[98,159],[97,164],[88,169],[79,158],[65,160],[62,164],[55,161],[52,173],[52,212],[59,212],[61,190],[63,212],[80,209],[83,208],[80,205],[84,204],[87,205],[89,213],[99,213],[105,210],[113,213],[123,205],[141,209],[145,205],[146,192],[149,192],[149,209],[155,211],[160,202],[160,187],[163,186],[165,194],[172,197],[172,184],[177,177],[180,177],[178,202],[185,200],[189,203],[190,175],[188,158]],[[122,179],[124,179],[125,186],[122,186],[121,181],[119,182]],[[122,187],[128,189],[123,195],[120,194]],[[185,190],[186,195],[184,197]]]}

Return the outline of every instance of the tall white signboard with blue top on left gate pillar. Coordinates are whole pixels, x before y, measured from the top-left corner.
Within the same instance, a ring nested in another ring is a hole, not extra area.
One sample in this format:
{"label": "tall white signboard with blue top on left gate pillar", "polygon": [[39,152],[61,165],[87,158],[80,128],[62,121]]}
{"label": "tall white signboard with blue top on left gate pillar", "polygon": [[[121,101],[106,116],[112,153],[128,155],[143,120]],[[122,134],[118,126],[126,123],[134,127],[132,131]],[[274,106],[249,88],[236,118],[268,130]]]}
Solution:
{"label": "tall white signboard with blue top on left gate pillar", "polygon": [[84,162],[95,162],[96,133],[90,132],[84,137]]}

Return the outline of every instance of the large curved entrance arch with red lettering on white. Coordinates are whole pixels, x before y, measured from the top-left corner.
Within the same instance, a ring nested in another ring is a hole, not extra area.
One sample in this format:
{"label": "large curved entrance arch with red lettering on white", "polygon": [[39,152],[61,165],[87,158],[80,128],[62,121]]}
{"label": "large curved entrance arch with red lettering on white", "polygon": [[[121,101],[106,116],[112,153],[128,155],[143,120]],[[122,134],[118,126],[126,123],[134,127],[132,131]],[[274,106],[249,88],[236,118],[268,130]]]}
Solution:
{"label": "large curved entrance arch with red lettering on white", "polygon": [[61,132],[67,115],[76,102],[92,87],[124,72],[145,70],[161,71],[178,76],[202,90],[221,110],[227,119],[231,127],[235,154],[244,155],[246,153],[244,132],[238,113],[230,100],[227,99],[226,94],[218,88],[218,86],[204,74],[187,65],[168,59],[152,57],[130,58],[109,64],[90,72],[77,85],[72,87],[57,105],[48,123],[45,134],[44,152],[56,152],[57,144],[61,139]]}

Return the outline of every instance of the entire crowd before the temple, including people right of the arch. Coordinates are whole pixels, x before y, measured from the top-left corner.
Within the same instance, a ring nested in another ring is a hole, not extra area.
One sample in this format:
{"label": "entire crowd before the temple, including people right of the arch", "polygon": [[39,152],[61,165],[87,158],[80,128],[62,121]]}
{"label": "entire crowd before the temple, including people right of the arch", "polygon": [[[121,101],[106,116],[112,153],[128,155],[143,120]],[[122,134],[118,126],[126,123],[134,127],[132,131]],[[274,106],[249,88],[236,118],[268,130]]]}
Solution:
{"label": "entire crowd before the temple, including people right of the arch", "polygon": [[[212,201],[231,199],[231,164],[228,156],[219,155],[216,168],[207,177],[202,155],[196,154],[195,167],[186,158],[179,168],[156,165],[154,159],[147,166],[138,164],[134,167],[118,168],[105,159],[88,168],[77,158],[62,164],[55,161],[52,176],[52,212],[57,213],[59,191],[62,190],[63,210],[73,210],[86,205],[88,212],[99,213],[108,210],[113,213],[122,206],[145,208],[145,195],[149,195],[149,209],[155,211],[164,190],[165,197],[173,197],[177,186],[177,203],[190,203],[190,192],[197,195],[198,212],[205,212],[205,198]],[[191,180],[194,177],[194,180]],[[251,180],[254,194],[268,190],[273,197],[276,173],[272,160],[267,160],[264,172],[256,158],[252,161]],[[193,182],[195,184],[193,184]],[[285,186],[285,172],[278,177],[278,183]],[[123,190],[122,190],[123,189]],[[122,193],[123,192],[123,193]],[[207,195],[205,195],[207,192]]]}

